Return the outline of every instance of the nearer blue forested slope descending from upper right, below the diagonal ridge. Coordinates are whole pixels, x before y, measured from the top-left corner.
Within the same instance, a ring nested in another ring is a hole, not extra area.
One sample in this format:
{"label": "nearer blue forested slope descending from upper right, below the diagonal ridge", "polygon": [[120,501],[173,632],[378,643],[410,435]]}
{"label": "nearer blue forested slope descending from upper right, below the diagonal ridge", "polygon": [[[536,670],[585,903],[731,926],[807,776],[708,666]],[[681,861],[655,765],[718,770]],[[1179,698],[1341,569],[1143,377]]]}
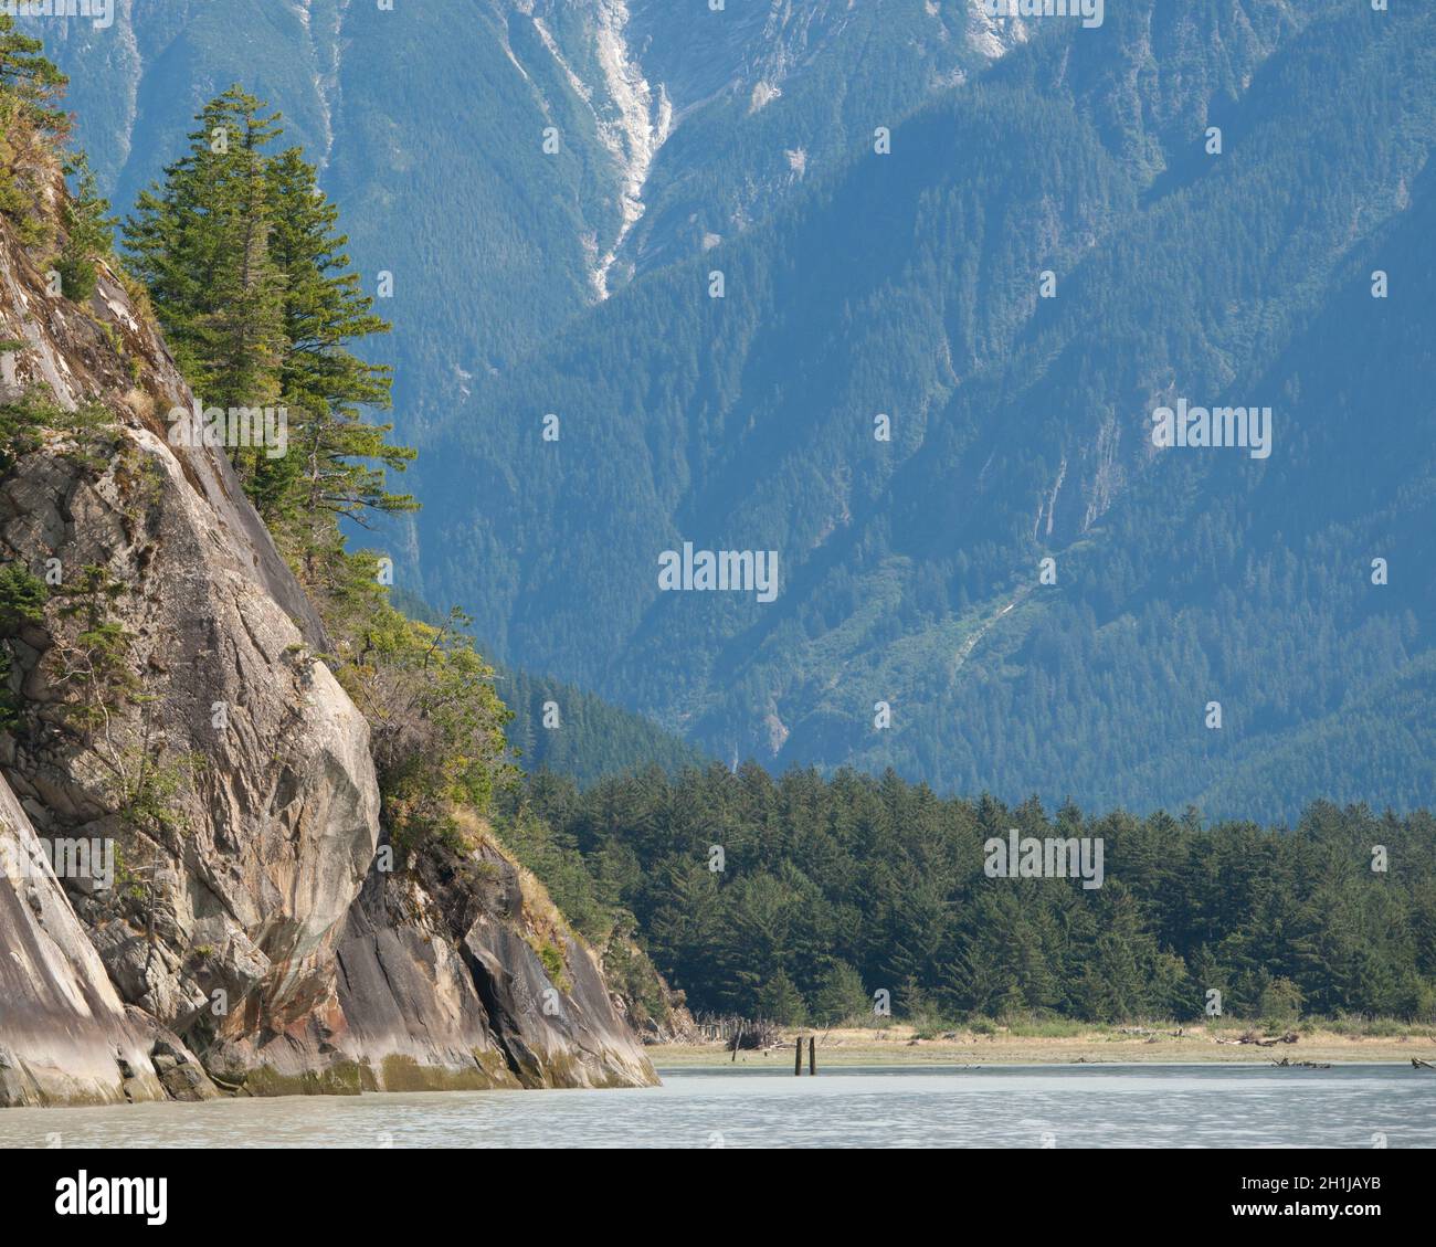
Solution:
{"label": "nearer blue forested slope descending from upper right, below the diagonal ridge", "polygon": [[[429,595],[722,757],[1429,800],[1433,57],[1436,14],[1346,4],[1041,32],[481,385]],[[1269,407],[1269,454],[1157,447],[1179,402]],[[685,540],[778,552],[777,602],[661,592]]]}

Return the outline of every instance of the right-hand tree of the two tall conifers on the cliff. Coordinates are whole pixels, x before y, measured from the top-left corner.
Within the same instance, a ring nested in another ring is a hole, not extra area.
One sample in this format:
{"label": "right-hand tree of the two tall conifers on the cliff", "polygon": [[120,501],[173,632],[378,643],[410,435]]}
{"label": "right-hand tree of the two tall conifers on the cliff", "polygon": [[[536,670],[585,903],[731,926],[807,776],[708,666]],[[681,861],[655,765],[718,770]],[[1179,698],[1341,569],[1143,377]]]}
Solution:
{"label": "right-hand tree of the two tall conifers on the cliff", "polygon": [[284,283],[283,401],[290,414],[290,454],[273,461],[263,481],[263,510],[296,529],[306,579],[335,566],[336,516],[365,524],[370,511],[416,507],[392,494],[385,471],[402,471],[415,453],[391,445],[389,424],[369,424],[366,407],[388,407],[391,372],[359,359],[349,343],[389,325],[373,315],[373,299],[359,286],[337,233],[339,208],[319,190],[314,167],[299,148],[270,164],[274,204],[271,256]]}

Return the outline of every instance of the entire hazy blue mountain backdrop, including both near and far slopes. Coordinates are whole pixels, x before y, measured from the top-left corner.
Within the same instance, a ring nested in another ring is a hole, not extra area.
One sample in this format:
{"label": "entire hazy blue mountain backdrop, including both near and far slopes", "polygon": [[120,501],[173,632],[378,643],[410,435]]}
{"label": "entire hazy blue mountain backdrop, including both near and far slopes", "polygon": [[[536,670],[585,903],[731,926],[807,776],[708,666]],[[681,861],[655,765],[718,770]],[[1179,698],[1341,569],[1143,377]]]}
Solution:
{"label": "entire hazy blue mountain backdrop, including both near and far slopes", "polygon": [[[386,540],[505,667],[729,761],[1436,792],[1427,9],[121,10],[46,37],[122,205],[241,79],[393,273]],[[1179,401],[1271,407],[1271,455],[1155,447]],[[659,592],[684,542],[775,550],[778,599]]]}

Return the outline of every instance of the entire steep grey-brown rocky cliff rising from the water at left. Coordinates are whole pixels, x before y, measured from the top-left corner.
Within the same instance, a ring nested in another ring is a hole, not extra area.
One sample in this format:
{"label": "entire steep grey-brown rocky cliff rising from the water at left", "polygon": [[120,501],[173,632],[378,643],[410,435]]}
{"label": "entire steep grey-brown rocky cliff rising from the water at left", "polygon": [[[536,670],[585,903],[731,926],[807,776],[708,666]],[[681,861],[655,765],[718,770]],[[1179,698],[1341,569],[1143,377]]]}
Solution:
{"label": "entire steep grey-brown rocky cliff rising from the water at left", "polygon": [[[59,193],[59,191],[56,191]],[[187,389],[102,270],[0,221],[0,1105],[592,1086],[653,1072],[589,950],[488,839],[395,868],[369,730]],[[13,425],[13,421],[10,422]]]}

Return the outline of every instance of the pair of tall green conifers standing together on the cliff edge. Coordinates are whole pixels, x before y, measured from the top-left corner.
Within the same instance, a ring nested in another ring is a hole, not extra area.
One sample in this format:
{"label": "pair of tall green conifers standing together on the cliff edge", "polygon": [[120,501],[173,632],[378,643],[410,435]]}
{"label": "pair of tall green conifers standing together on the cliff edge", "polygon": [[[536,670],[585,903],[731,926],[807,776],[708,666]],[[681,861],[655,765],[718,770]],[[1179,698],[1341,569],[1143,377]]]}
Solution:
{"label": "pair of tall green conifers standing together on the cliff edge", "polygon": [[284,457],[231,454],[309,585],[333,589],[352,575],[335,520],[412,510],[385,474],[414,451],[362,417],[389,405],[391,378],[349,348],[389,326],[350,270],[314,167],[299,148],[266,154],[283,134],[266,111],[237,86],[208,103],[190,152],[141,195],[125,244],[201,401],[287,408]]}

